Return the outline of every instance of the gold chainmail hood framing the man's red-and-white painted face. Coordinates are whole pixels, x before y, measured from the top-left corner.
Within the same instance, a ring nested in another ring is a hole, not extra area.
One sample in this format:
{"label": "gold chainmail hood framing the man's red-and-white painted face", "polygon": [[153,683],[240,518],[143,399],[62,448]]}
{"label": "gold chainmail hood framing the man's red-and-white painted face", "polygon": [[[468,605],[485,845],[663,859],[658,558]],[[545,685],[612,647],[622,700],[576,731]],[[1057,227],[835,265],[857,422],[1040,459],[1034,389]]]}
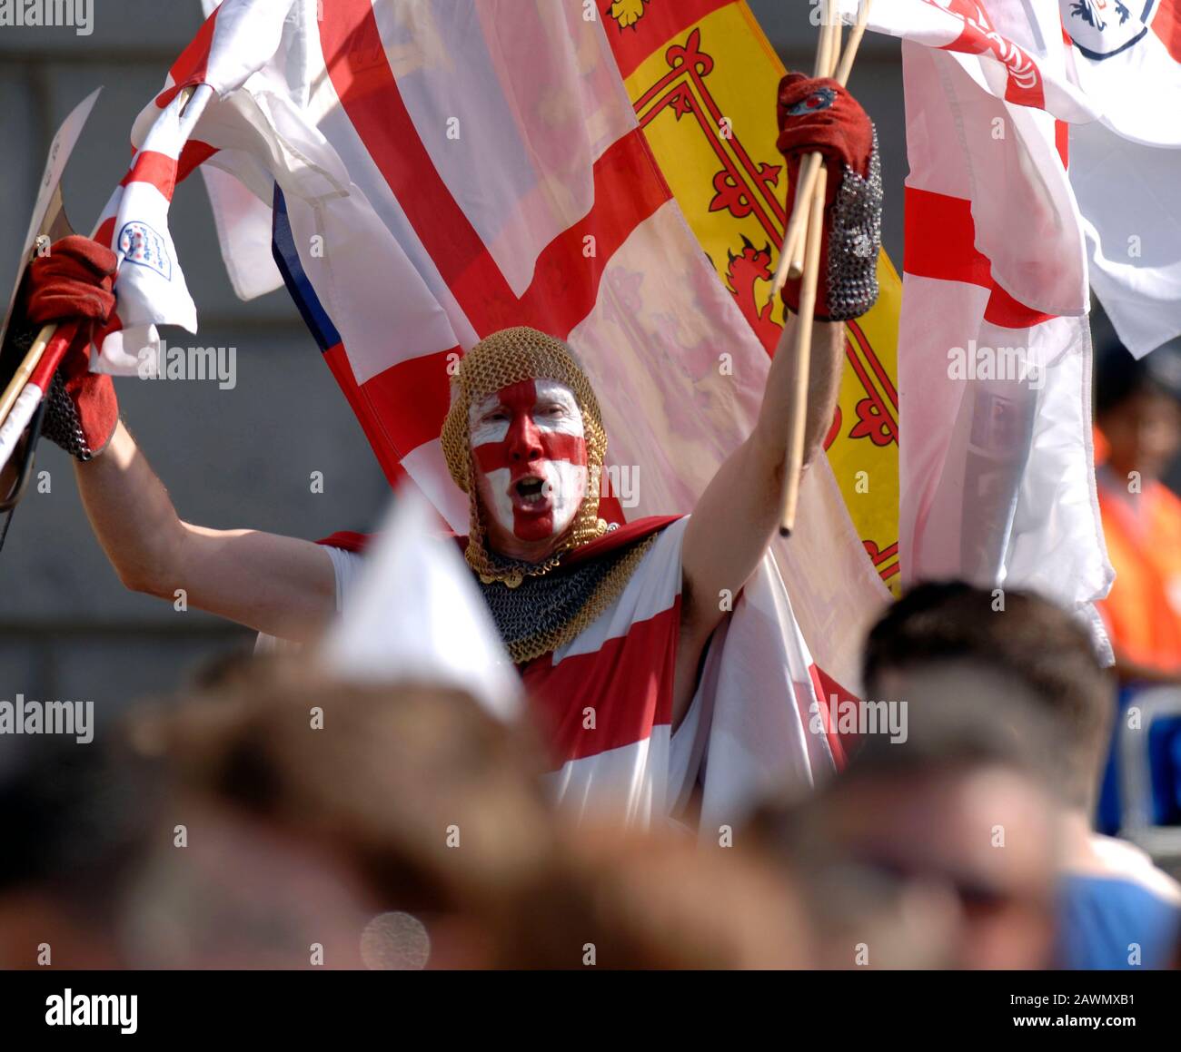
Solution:
{"label": "gold chainmail hood framing the man's red-and-white painted face", "polygon": [[[471,462],[471,435],[468,410],[489,395],[523,380],[556,380],[565,383],[582,413],[582,430],[587,443],[587,492],[566,534],[553,555],[544,563],[504,563],[488,551],[484,539],[488,527],[484,509],[476,498],[475,466]],[[456,485],[469,497],[471,526],[468,533],[468,565],[485,584],[491,580],[515,581],[522,576],[539,577],[553,570],[563,552],[594,540],[607,530],[599,518],[599,482],[607,455],[607,433],[602,428],[599,400],[569,348],[561,340],[515,326],[501,329],[479,341],[459,362],[451,384],[451,407],[443,421],[443,455]],[[500,565],[498,565],[500,564]]]}

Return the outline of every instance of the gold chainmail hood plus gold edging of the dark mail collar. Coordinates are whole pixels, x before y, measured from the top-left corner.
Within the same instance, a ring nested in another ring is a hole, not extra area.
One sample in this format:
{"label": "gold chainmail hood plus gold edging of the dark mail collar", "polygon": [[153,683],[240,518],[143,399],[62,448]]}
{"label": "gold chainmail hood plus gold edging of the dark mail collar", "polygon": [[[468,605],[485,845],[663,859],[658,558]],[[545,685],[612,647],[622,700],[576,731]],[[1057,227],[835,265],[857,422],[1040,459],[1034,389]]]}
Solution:
{"label": "gold chainmail hood plus gold edging of the dark mail collar", "polygon": [[[537,564],[502,559],[487,547],[488,527],[484,509],[476,495],[468,420],[471,406],[478,405],[501,388],[523,380],[555,380],[566,384],[574,393],[582,413],[582,428],[587,443],[586,495],[553,555]],[[481,340],[459,362],[451,384],[451,406],[443,422],[442,443],[448,471],[469,498],[471,525],[465,558],[468,565],[479,576],[485,598],[490,603],[511,601],[520,596],[521,601],[528,604],[530,589],[520,587],[526,577],[540,578],[549,573],[561,563],[563,553],[607,532],[607,524],[599,518],[599,486],[603,459],[607,455],[607,434],[602,426],[602,414],[590,381],[561,340],[527,326],[501,329]],[[589,591],[586,601],[563,624],[524,638],[505,639],[513,660],[523,664],[574,639],[615,600],[655,537],[654,533],[650,534],[619,554],[618,561]],[[518,587],[520,592],[516,591]],[[497,591],[491,592],[491,590]]]}

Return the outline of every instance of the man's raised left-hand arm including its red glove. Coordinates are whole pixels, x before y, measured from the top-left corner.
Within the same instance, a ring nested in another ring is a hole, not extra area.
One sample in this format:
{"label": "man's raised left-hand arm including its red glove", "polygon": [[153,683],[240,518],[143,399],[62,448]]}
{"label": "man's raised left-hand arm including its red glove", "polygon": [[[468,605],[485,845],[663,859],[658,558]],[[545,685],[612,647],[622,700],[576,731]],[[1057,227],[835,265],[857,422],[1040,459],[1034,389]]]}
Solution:
{"label": "man's raised left-hand arm including its red glove", "polygon": [[48,393],[44,435],[76,459],[86,514],[129,589],[185,603],[285,639],[312,638],[335,610],[328,553],[306,540],[184,522],[118,419],[115,386],[92,374],[91,327],[115,305],[115,256],[83,237],[52,245],[31,268],[24,320],[77,318],[80,337]]}

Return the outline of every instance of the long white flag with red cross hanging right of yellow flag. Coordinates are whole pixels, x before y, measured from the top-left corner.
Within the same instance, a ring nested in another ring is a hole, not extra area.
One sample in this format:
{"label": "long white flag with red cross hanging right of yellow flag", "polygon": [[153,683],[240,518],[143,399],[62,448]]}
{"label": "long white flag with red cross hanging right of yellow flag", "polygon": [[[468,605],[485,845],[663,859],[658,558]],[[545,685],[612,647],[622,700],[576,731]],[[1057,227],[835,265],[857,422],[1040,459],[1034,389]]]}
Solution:
{"label": "long white flag with red cross hanging right of yellow flag", "polygon": [[1058,5],[885,0],[903,38],[900,544],[909,580],[1030,587],[1098,630],[1087,246]]}

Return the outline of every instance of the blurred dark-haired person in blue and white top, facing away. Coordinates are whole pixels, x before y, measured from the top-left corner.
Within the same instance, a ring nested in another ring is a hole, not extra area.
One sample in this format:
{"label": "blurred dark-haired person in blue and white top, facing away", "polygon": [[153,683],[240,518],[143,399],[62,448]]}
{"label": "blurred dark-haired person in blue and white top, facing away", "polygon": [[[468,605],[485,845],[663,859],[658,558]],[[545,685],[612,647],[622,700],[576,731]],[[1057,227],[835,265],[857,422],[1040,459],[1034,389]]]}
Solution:
{"label": "blurred dark-haired person in blue and white top, facing away", "polygon": [[1181,923],[1181,887],[1146,853],[1092,828],[1115,697],[1087,631],[1032,594],[921,585],[870,633],[866,682],[880,695],[906,698],[913,725],[928,718],[932,704],[946,704],[937,696],[920,708],[915,683],[944,670],[976,686],[973,664],[1014,682],[990,698],[992,719],[1019,730],[1036,718],[1048,731],[1035,760],[1058,811],[1056,966],[1160,966],[1169,932]]}

